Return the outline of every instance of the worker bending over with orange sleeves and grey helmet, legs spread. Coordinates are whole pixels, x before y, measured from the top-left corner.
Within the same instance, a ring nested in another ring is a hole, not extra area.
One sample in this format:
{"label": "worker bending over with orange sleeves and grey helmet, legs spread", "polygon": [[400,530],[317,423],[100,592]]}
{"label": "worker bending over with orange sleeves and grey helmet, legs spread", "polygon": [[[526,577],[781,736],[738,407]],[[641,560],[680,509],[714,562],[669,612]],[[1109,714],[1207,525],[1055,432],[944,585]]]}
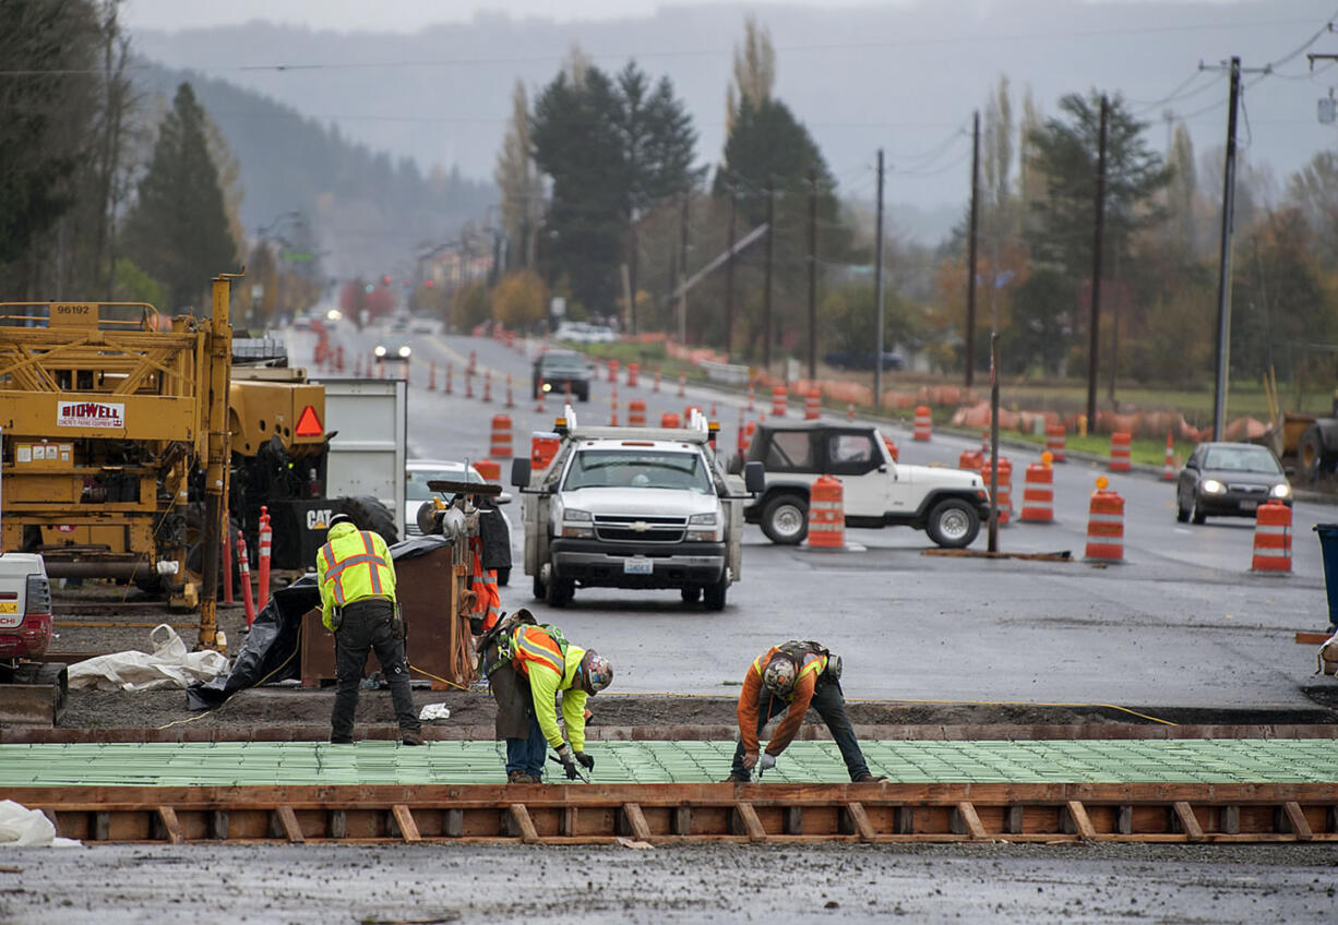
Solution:
{"label": "worker bending over with orange sleeves and grey helmet, legs spread", "polygon": [[[868,771],[864,753],[855,741],[840,690],[840,656],[815,642],[789,640],[772,646],[748,666],[739,695],[739,747],[727,782],[747,782],[755,767],[759,774],[775,767],[776,758],[795,739],[808,707],[827,723],[851,781],[876,783],[887,779]],[[781,712],[785,718],[767,743],[767,751],[759,755],[757,739],[763,727]]]}

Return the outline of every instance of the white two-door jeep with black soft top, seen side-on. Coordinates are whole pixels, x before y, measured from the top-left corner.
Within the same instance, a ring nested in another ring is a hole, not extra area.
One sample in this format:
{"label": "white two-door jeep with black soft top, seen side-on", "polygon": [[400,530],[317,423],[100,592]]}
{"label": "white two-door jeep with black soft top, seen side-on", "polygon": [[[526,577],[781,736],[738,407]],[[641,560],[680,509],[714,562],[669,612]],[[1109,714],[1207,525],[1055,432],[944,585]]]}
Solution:
{"label": "white two-door jeep with black soft top, seen side-on", "polygon": [[808,491],[819,475],[842,480],[847,527],[913,527],[958,549],[975,540],[990,515],[978,472],[896,462],[874,426],[764,421],[747,460],[765,467],[767,491],[744,516],[780,545],[808,536]]}

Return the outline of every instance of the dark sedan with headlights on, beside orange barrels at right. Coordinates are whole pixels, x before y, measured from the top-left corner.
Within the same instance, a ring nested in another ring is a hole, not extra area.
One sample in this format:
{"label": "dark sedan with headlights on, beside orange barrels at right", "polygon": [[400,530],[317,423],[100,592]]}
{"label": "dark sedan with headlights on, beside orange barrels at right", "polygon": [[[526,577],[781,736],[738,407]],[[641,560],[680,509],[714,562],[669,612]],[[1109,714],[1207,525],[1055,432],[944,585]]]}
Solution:
{"label": "dark sedan with headlights on, beside orange barrels at right", "polygon": [[1264,501],[1291,507],[1287,471],[1267,446],[1207,442],[1193,448],[1176,480],[1181,524],[1212,517],[1254,517]]}

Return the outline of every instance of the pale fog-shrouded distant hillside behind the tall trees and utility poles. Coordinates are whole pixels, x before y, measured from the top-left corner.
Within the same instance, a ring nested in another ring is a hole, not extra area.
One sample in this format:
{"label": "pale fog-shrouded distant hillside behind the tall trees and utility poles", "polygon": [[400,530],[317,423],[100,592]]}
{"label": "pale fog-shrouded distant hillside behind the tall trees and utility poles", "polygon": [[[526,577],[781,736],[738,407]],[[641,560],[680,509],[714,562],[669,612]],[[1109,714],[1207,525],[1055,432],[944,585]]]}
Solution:
{"label": "pale fog-shrouded distant hillside behind the tall trees and utility poles", "polygon": [[[598,21],[511,20],[479,15],[416,33],[309,31],[266,23],[183,32],[139,29],[136,49],[174,68],[266,94],[392,158],[427,171],[458,167],[488,179],[504,131],[510,92],[551,80],[573,44],[617,70],[636,57],[668,75],[700,132],[698,158],[716,163],[724,143],[731,51],[745,9],[771,29],[776,95],[808,126],[846,195],[874,190],[874,152],[892,168],[894,221],[934,238],[959,215],[970,168],[969,126],[991,84],[1006,74],[1030,87],[1042,112],[1065,92],[1120,92],[1167,140],[1163,111],[1189,126],[1196,150],[1226,134],[1227,79],[1196,74],[1236,53],[1246,67],[1283,59],[1334,15],[1333,0],[1243,3],[1066,3],[915,0],[883,8],[720,4],[662,8],[653,16]],[[1310,51],[1338,51],[1338,35]],[[277,70],[274,65],[289,65]],[[1334,144],[1315,103],[1338,70],[1311,76],[1305,55],[1246,91],[1242,143],[1282,179]],[[1163,100],[1177,95],[1168,103]]]}

